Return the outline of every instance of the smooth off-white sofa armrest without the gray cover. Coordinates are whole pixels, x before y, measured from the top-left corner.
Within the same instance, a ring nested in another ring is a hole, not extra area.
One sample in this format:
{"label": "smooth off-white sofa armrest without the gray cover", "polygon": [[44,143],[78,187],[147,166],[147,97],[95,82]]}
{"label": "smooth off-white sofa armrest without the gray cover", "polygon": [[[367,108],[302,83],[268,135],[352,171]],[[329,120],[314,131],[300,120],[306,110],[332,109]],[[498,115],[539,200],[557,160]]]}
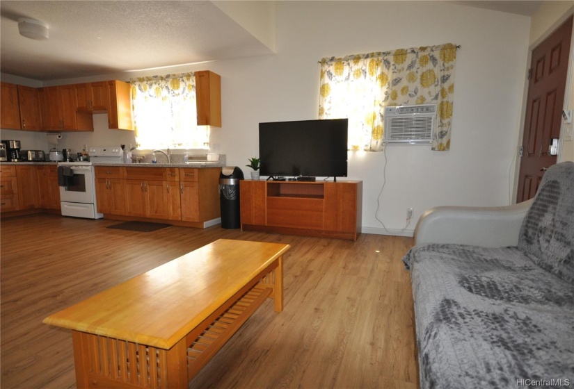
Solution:
{"label": "smooth off-white sofa armrest without the gray cover", "polygon": [[534,200],[503,207],[440,206],[426,210],[415,227],[415,245],[455,243],[482,247],[518,245]]}

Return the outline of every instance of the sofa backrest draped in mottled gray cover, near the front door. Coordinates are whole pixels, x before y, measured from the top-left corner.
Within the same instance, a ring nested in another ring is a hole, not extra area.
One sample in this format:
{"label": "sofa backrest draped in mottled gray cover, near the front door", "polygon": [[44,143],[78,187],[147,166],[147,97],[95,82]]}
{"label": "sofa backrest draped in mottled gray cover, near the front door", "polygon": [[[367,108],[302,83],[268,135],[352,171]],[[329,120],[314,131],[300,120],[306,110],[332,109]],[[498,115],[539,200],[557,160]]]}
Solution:
{"label": "sofa backrest draped in mottled gray cover, near the front door", "polygon": [[545,172],[526,214],[518,248],[548,272],[574,284],[574,163]]}

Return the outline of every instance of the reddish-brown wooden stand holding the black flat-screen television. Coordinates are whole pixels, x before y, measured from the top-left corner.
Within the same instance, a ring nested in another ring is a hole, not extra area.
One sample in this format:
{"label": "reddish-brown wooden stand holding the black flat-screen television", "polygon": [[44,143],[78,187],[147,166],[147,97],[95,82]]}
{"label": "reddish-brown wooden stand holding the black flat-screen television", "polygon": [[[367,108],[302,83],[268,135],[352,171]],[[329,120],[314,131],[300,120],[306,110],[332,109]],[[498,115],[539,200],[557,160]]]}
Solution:
{"label": "reddish-brown wooden stand holding the black flat-screen television", "polygon": [[241,231],[357,240],[362,181],[253,181],[239,185]]}

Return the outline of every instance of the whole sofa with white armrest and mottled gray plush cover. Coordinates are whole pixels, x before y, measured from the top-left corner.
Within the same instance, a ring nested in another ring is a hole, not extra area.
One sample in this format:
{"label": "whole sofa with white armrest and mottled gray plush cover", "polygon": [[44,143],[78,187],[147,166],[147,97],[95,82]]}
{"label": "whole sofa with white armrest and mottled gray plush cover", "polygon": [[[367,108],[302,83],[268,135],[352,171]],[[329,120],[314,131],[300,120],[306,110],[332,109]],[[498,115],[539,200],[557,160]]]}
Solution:
{"label": "whole sofa with white armrest and mottled gray plush cover", "polygon": [[574,385],[574,163],[525,204],[429,210],[403,260],[422,389]]}

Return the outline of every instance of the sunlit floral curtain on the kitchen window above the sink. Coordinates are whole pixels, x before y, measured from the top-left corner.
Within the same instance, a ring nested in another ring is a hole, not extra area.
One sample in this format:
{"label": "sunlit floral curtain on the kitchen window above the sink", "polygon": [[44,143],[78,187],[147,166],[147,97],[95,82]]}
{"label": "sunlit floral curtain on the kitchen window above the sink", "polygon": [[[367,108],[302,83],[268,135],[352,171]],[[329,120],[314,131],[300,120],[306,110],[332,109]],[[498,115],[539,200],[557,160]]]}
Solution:
{"label": "sunlit floral curtain on the kitchen window above the sink", "polygon": [[132,78],[130,82],[138,148],[205,148],[209,130],[197,125],[193,73]]}

